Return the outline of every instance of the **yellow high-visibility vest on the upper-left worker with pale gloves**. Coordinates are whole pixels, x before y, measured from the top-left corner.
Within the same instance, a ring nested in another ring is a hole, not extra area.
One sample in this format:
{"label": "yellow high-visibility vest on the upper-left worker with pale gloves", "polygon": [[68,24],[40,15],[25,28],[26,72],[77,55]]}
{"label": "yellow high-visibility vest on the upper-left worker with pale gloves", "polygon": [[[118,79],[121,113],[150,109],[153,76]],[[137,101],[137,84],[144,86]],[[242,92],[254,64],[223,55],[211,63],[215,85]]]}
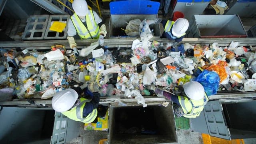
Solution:
{"label": "yellow high-visibility vest on the upper-left worker with pale gloves", "polygon": [[85,18],[86,18],[85,22],[86,22],[87,28],[76,13],[74,13],[70,17],[70,19],[74,24],[74,27],[76,28],[76,32],[81,39],[89,39],[89,38],[97,39],[100,36],[100,28],[98,24],[95,22],[92,10],[90,10],[90,13],[87,14]]}

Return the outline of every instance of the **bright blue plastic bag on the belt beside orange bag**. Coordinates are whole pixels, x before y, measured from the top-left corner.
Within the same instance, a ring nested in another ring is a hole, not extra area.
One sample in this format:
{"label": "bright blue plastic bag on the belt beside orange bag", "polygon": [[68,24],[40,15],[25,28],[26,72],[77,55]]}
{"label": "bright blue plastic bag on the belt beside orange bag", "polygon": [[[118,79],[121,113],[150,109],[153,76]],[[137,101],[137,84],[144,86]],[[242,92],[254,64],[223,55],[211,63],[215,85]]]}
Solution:
{"label": "bright blue plastic bag on the belt beside orange bag", "polygon": [[194,79],[194,81],[197,81],[200,84],[202,84],[207,96],[217,94],[220,84],[220,77],[216,72],[204,70],[202,73],[198,75],[198,77]]}

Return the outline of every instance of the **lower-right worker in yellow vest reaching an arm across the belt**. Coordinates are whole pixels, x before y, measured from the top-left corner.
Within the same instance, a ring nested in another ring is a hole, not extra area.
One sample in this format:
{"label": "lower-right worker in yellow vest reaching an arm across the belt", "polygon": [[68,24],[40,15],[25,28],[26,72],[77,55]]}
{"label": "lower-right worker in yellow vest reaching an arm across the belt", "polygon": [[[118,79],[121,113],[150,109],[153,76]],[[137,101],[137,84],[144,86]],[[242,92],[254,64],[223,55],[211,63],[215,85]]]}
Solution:
{"label": "lower-right worker in yellow vest reaching an arm across the belt", "polygon": [[174,106],[176,116],[185,118],[196,118],[200,115],[204,106],[208,102],[208,97],[204,92],[204,87],[199,82],[190,81],[183,85],[184,94],[186,96],[176,96],[170,92],[160,90],[154,85],[150,85],[149,89],[154,90],[156,94],[161,94],[177,105]]}

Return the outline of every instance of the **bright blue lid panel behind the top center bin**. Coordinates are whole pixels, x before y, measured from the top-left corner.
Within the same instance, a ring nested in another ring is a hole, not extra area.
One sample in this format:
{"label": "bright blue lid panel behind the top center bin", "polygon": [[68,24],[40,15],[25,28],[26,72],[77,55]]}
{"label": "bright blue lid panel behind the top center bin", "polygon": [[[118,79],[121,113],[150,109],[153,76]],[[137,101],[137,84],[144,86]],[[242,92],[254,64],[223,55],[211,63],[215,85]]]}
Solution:
{"label": "bright blue lid panel behind the top center bin", "polygon": [[110,2],[110,14],[157,14],[159,2],[148,0],[126,0]]}

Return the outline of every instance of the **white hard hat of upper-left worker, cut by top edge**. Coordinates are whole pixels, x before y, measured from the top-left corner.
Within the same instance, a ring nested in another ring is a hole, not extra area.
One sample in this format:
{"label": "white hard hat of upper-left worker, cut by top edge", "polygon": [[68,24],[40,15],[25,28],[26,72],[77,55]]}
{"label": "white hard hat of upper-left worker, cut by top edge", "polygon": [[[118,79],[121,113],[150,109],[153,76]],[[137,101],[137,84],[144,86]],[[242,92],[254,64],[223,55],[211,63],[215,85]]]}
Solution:
{"label": "white hard hat of upper-left worker, cut by top edge", "polygon": [[78,16],[85,16],[89,12],[88,5],[85,0],[74,0],[72,8]]}

